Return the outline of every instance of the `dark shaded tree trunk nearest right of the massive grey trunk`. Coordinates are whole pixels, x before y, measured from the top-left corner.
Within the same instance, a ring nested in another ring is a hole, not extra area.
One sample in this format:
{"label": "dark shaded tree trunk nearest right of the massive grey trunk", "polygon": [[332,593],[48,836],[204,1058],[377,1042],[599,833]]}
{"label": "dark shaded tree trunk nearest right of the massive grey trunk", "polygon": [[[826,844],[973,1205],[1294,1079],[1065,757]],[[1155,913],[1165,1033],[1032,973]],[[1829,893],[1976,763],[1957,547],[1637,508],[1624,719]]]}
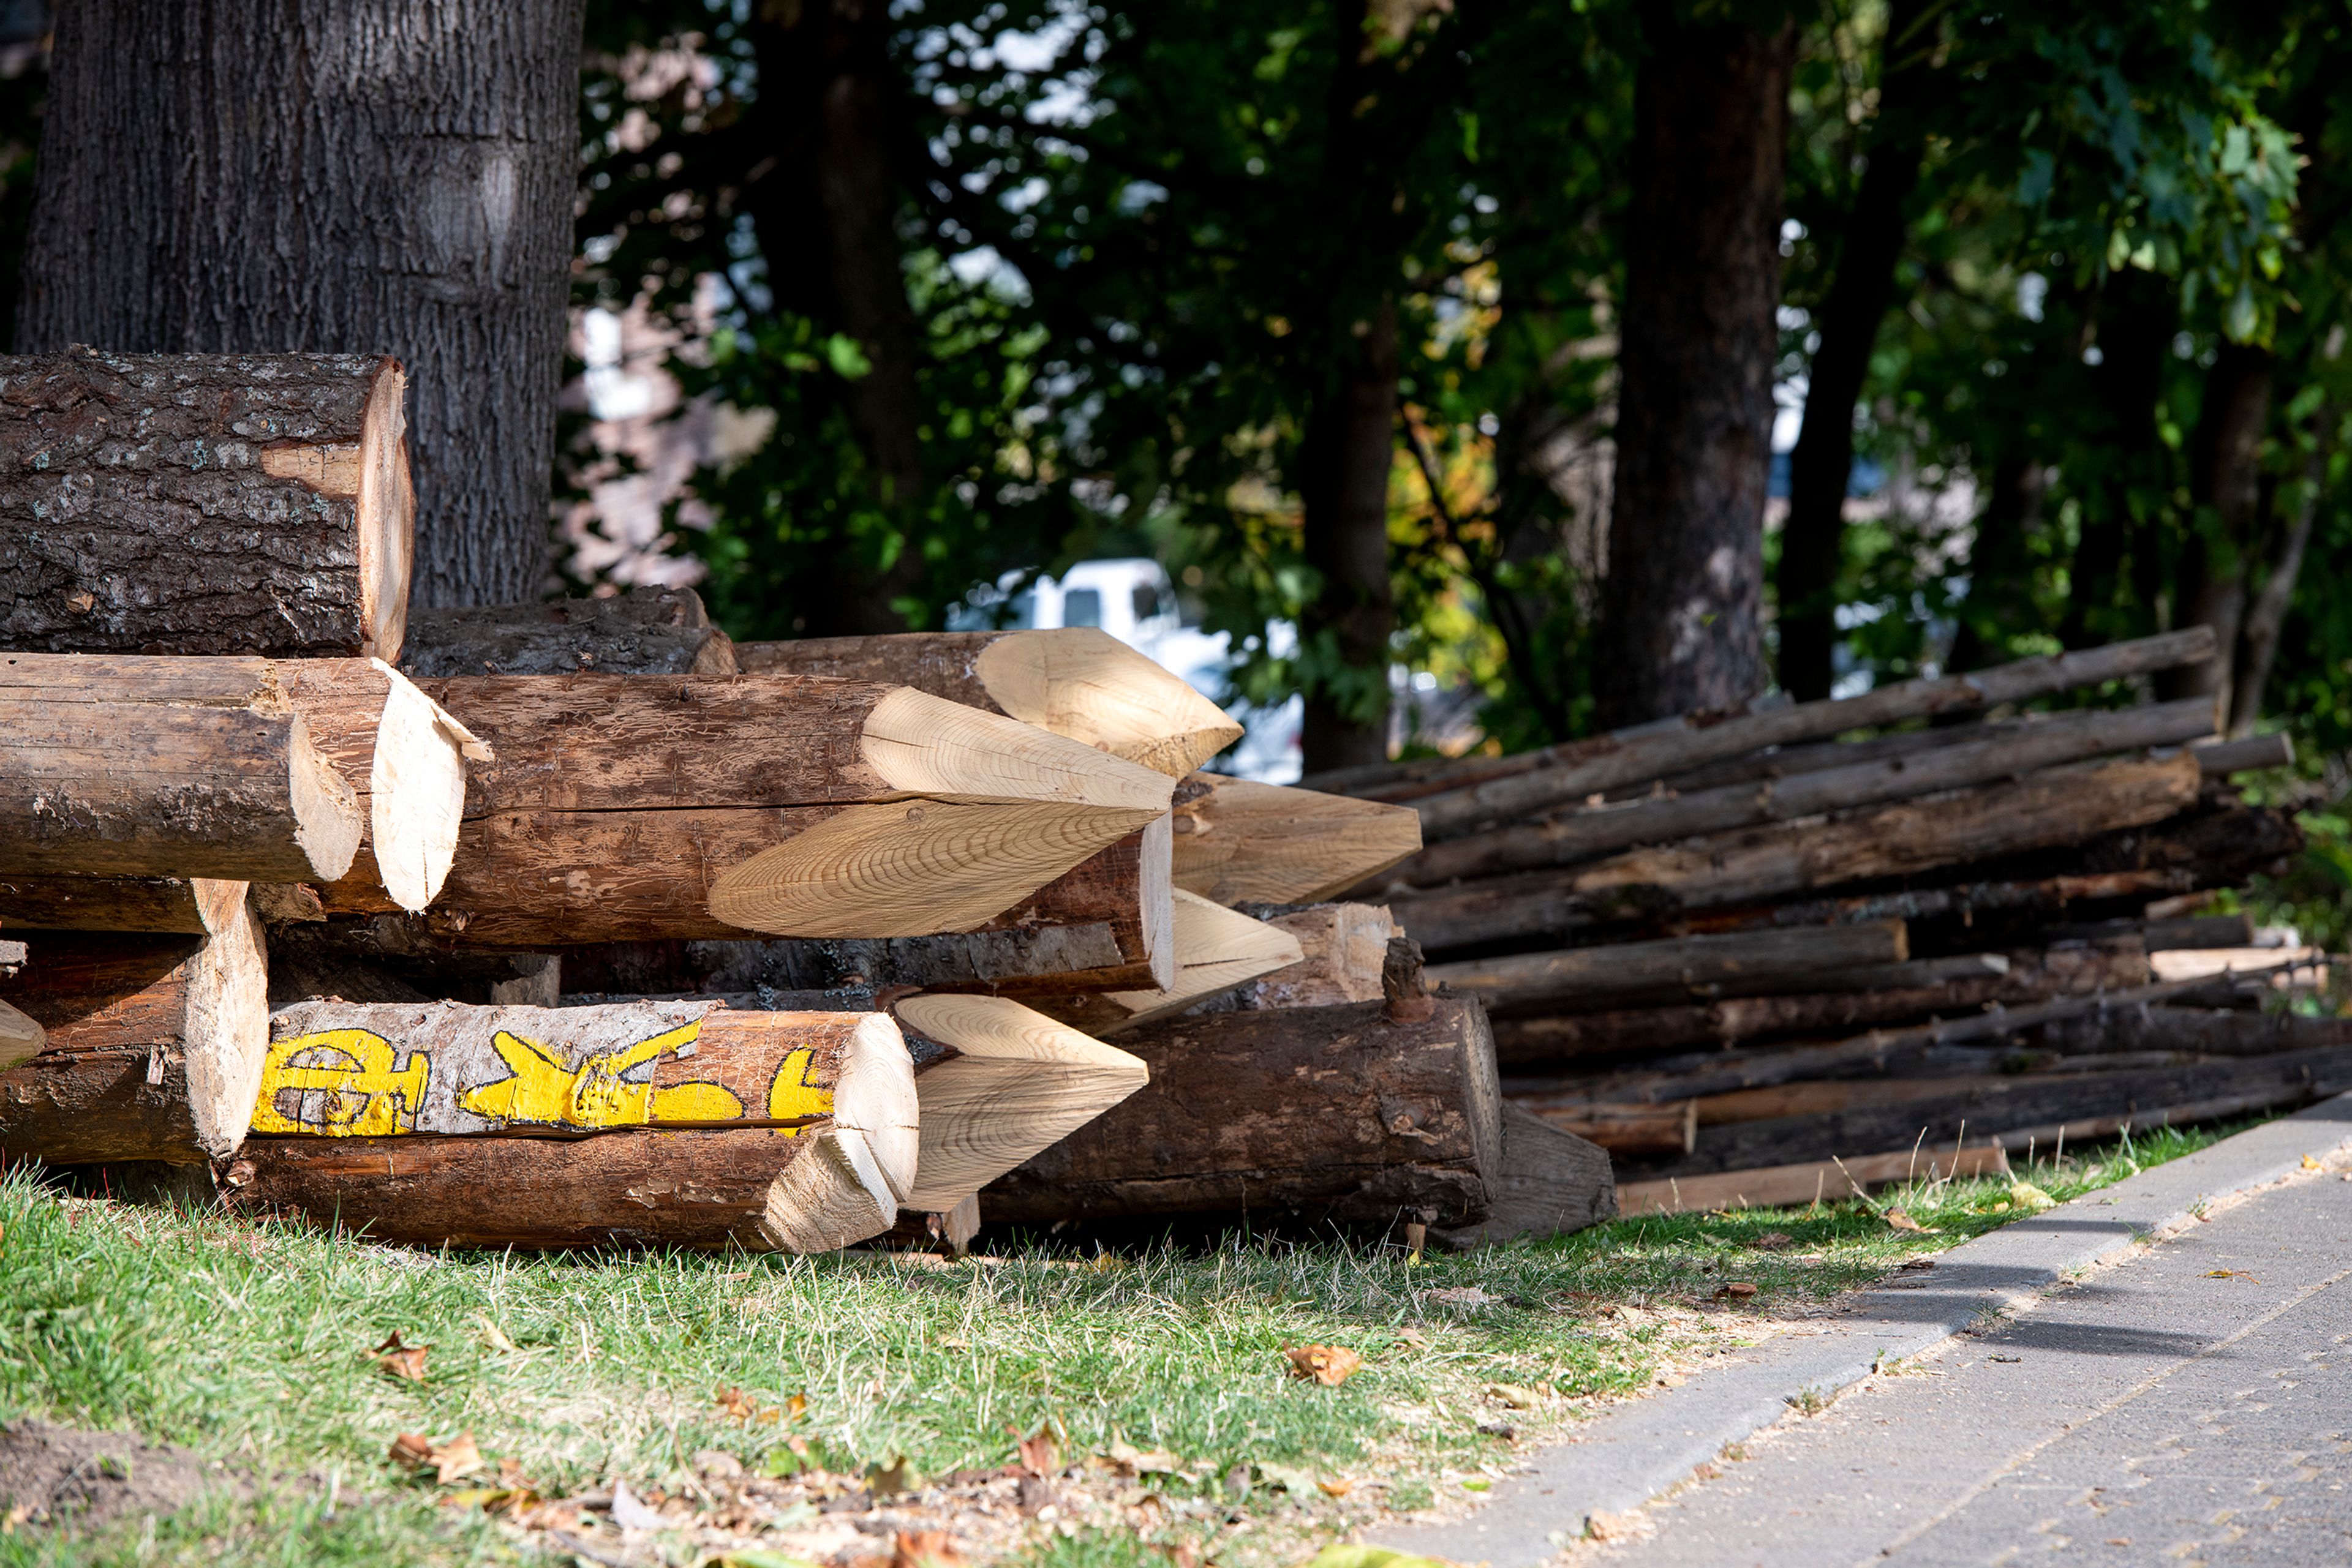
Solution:
{"label": "dark shaded tree trunk nearest right of the massive grey trunk", "polygon": [[[927,498],[922,353],[898,256],[898,141],[906,82],[889,59],[891,7],[807,0],[757,7],[755,136],[771,153],[750,181],[750,214],[781,306],[856,339],[868,371],[835,376],[868,465],[868,491],[898,527]],[[821,233],[809,233],[811,219]],[[922,585],[922,550],[884,564],[880,541],[833,541],[840,592],[809,595],[809,632],[903,632],[894,599]]]}

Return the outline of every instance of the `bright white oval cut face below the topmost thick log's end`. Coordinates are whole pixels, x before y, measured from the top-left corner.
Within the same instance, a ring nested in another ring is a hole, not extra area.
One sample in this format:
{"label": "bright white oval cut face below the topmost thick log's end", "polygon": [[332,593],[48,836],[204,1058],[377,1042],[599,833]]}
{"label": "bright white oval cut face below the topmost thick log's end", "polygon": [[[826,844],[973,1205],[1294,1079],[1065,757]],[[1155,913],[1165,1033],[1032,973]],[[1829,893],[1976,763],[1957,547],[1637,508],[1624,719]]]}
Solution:
{"label": "bright white oval cut face below the topmost thick log's end", "polygon": [[416,914],[440,898],[466,816],[466,762],[489,762],[489,748],[381,658],[390,682],[367,766],[369,842],[376,877],[402,910]]}

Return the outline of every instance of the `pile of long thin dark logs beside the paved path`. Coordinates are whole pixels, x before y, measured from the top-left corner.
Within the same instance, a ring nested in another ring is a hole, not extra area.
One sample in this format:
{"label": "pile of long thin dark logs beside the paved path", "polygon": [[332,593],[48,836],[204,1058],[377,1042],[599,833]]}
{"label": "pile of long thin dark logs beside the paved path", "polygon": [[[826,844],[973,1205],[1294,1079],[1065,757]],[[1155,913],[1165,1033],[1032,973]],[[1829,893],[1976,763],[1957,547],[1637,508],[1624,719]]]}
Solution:
{"label": "pile of long thin dark logs beside the paved path", "polygon": [[2230,788],[2286,741],[2150,698],[2209,658],[2192,628],[1308,783],[1421,813],[1374,891],[1628,1211],[1806,1201],[2352,1088],[2324,964],[2227,912],[2300,846]]}

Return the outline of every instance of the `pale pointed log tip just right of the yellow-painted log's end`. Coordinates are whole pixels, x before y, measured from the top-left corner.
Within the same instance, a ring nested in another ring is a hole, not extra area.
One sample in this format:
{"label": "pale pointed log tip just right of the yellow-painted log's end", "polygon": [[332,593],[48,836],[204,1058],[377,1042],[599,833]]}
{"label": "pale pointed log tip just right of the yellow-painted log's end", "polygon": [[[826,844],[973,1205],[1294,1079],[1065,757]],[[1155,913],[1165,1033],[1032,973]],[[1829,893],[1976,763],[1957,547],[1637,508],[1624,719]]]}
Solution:
{"label": "pale pointed log tip just right of the yellow-painted log's end", "polygon": [[915,1079],[922,1161],[908,1208],[957,1208],[1150,1081],[1141,1058],[1009,997],[908,997],[898,1016],[960,1053]]}

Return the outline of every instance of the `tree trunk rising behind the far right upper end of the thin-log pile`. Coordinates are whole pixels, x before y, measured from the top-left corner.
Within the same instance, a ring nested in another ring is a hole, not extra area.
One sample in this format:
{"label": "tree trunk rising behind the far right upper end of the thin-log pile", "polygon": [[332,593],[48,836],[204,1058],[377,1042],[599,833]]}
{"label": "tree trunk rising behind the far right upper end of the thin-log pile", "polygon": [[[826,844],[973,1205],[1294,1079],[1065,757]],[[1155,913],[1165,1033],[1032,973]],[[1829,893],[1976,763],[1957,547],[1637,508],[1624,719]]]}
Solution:
{"label": "tree trunk rising behind the far right upper end of the thin-log pile", "polygon": [[[2211,625],[2218,656],[2157,682],[2166,696],[2220,696],[2237,689],[2237,639],[2246,621],[2246,557],[2263,517],[2263,428],[2270,423],[2270,383],[2277,355],[2246,343],[2223,343],[2206,371],[2204,414],[2190,449],[2187,550],[2180,559],[2180,625]],[[2227,715],[2223,715],[2227,722]]]}

